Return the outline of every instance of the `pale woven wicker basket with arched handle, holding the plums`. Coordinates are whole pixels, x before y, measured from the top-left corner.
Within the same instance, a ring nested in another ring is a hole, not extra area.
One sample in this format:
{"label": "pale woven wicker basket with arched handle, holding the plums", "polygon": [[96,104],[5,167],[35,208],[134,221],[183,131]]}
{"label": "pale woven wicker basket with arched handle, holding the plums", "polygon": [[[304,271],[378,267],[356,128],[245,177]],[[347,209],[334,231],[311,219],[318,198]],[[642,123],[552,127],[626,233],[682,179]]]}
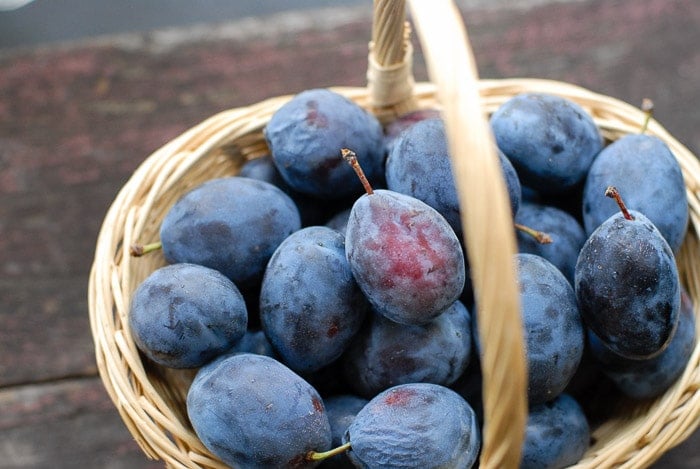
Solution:
{"label": "pale woven wicker basket with arched handle, holding the plums", "polygon": [[[469,41],[449,1],[410,1],[426,56],[430,83],[414,83],[405,2],[375,0],[368,86],[334,88],[384,122],[414,108],[438,107],[446,122],[465,241],[480,311],[484,370],[484,443],[481,467],[517,467],[526,416],[525,363],[519,298],[511,262],[512,219],[486,116],[523,91],[558,94],[591,113],[609,141],[638,132],[645,114],[616,99],[548,80],[478,80]],[[128,246],[157,240],[160,223],[180,195],[214,177],[235,175],[266,152],[262,129],[290,97],[221,112],[148,157],[113,202],[104,220],[89,284],[97,364],[126,426],[150,458],[171,467],[225,467],[190,427],[185,396],[192,372],[142,360],[128,328],[131,295],[161,254],[132,258]],[[466,126],[466,127],[465,127]],[[470,132],[460,129],[469,128]],[[648,133],[677,157],[687,186],[691,223],[678,256],[682,282],[700,306],[700,165],[683,145],[652,121]],[[488,203],[486,203],[488,201]],[[700,325],[700,321],[698,321]],[[625,403],[624,411],[594,431],[595,443],[576,467],[643,467],[688,437],[700,418],[700,345],[685,373],[652,402]]]}

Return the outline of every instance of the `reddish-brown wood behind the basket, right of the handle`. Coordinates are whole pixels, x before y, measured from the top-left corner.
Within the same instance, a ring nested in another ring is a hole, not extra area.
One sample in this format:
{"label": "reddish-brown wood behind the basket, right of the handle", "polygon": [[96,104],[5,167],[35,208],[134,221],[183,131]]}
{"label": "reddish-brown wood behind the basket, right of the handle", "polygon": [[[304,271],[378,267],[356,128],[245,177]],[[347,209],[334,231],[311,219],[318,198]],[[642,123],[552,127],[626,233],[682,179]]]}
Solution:
{"label": "reddish-brown wood behind the basket, right of the handle", "polygon": [[695,154],[700,89],[700,2],[594,0],[524,12],[466,12],[484,78],[538,77],[639,105]]}

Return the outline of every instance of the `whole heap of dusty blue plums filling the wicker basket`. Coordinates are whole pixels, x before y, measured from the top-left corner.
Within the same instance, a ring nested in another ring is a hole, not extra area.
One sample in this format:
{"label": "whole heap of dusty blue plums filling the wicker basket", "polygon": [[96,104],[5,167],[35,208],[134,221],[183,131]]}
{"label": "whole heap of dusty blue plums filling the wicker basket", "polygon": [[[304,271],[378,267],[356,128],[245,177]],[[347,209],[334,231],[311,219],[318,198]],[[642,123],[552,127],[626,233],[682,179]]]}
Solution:
{"label": "whole heap of dusty blue plums filling the wicker basket", "polygon": [[[607,142],[559,96],[516,95],[490,123],[519,251],[522,467],[563,467],[589,445],[570,392],[584,367],[647,399],[688,361],[695,318],[675,262],[685,185],[663,141],[640,127]],[[383,128],[313,89],[264,136],[268,156],[165,216],[168,265],[129,314],[144,357],[197,370],[190,422],[231,466],[472,467],[476,321],[498,312],[474,300],[439,112]]]}

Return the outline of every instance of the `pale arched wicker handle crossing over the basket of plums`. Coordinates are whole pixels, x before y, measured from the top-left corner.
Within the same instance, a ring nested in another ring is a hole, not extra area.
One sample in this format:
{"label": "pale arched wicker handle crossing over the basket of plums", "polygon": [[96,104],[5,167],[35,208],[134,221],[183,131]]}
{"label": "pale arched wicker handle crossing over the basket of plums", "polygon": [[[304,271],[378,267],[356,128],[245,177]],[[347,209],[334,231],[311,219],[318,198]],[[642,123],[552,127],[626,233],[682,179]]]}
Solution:
{"label": "pale arched wicker handle crossing over the basket of plums", "polygon": [[[409,5],[445,121],[479,313],[485,421],[480,467],[517,468],[527,416],[527,372],[505,182],[459,10],[449,0],[409,0]],[[405,0],[375,0],[370,57],[391,50],[382,57],[395,59],[397,48],[410,51],[404,15]],[[406,53],[403,65],[393,64],[393,69],[410,65]],[[368,72],[373,93],[381,91],[372,82],[375,73]],[[402,93],[407,86],[413,86],[412,77],[399,85]],[[373,93],[373,102],[386,105],[384,97]]]}

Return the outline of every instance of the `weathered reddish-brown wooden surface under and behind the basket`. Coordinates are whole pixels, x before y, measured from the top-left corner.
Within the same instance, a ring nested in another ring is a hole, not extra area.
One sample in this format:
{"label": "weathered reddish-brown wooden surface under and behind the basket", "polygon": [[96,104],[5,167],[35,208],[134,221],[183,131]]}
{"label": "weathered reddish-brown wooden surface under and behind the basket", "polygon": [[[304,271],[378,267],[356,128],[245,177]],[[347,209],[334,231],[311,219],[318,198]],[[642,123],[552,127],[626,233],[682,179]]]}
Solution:
{"label": "weathered reddish-brown wooden surface under and behind the basket", "polygon": [[[465,20],[483,77],[651,97],[658,120],[700,151],[700,2],[585,0]],[[369,16],[322,23],[0,53],[0,468],[161,467],[97,377],[86,286],[102,217],[148,154],[215,112],[363,85]],[[657,467],[700,467],[699,433]]]}

